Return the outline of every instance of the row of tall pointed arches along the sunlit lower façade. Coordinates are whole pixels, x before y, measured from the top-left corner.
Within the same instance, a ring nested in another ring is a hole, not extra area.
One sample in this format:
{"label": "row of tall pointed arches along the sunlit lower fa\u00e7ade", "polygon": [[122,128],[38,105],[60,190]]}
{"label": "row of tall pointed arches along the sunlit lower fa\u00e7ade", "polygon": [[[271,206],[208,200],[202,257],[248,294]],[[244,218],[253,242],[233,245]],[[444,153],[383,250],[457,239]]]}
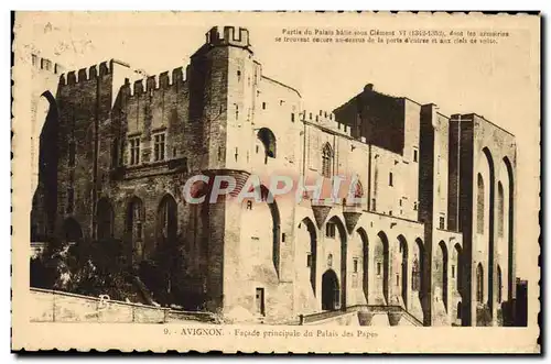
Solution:
{"label": "row of tall pointed arches along the sunlit lower fa\u00e7ade", "polygon": [[[322,310],[367,305],[372,307],[398,306],[419,321],[426,321],[424,297],[429,286],[425,244],[417,236],[391,235],[390,231],[369,234],[361,227],[348,234],[338,217],[327,219],[317,229],[312,219],[303,219],[298,228],[296,260],[303,262],[311,297]],[[462,247],[460,243],[447,246],[442,241],[436,246],[433,267],[433,297],[443,305],[449,321],[454,321],[461,307],[460,275]],[[449,254],[450,251],[453,255]],[[305,280],[305,278],[304,278]],[[454,320],[452,320],[452,317]],[[461,319],[458,321],[461,324]]]}

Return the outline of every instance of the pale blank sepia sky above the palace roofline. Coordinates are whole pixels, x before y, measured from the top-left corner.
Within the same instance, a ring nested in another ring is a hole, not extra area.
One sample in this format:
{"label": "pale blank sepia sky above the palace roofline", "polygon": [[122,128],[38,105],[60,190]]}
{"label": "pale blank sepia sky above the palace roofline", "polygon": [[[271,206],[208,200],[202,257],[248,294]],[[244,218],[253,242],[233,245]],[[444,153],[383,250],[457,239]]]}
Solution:
{"label": "pale blank sepia sky above the palace roofline", "polygon": [[[186,66],[213,25],[245,26],[262,73],[296,88],[312,110],[332,110],[366,84],[445,115],[476,112],[517,137],[517,276],[538,275],[540,163],[539,29],[447,14],[26,13],[29,51],[78,69],[117,58],[150,75]],[[532,31],[528,31],[529,29]],[[494,45],[277,43],[282,31],[507,31]],[[18,35],[15,35],[18,36]]]}

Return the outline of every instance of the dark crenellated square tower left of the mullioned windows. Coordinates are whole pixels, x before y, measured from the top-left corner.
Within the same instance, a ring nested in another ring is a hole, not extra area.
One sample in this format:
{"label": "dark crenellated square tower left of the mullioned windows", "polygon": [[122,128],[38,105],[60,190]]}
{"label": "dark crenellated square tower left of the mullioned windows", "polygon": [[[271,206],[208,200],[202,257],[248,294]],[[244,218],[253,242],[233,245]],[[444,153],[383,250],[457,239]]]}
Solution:
{"label": "dark crenellated square tower left of the mullioned windows", "polygon": [[[57,231],[96,234],[96,203],[109,192],[111,145],[118,133],[114,110],[121,86],[134,74],[128,64],[110,59],[58,77]],[[74,220],[80,222],[78,229],[67,227]]]}

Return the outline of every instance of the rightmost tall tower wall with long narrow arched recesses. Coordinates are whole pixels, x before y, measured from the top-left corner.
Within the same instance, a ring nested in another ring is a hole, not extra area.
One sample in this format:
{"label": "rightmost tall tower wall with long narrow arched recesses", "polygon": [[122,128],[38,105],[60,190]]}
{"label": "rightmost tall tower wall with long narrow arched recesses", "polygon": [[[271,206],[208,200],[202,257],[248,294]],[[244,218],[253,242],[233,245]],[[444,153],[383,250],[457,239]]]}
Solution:
{"label": "rightmost tall tower wall with long narrow arched recesses", "polygon": [[[465,214],[461,221],[461,231],[467,260],[464,274],[467,282],[471,282],[462,293],[468,297],[465,300],[469,302],[463,315],[468,317],[465,318],[468,324],[477,324],[480,323],[477,312],[487,309],[491,320],[496,321],[504,302],[515,297],[516,143],[510,133],[479,115],[457,114],[452,119],[462,129],[460,209]],[[479,179],[482,184],[478,183]],[[498,208],[499,184],[504,191],[501,211]],[[512,188],[509,189],[509,186]],[[479,196],[483,197],[478,198]],[[501,233],[498,231],[497,219],[503,219]],[[482,230],[478,229],[479,221]],[[482,272],[482,287],[477,279],[478,272]],[[498,278],[499,272],[501,279]],[[482,300],[478,300],[478,289],[482,290]],[[501,302],[498,302],[499,290]]]}

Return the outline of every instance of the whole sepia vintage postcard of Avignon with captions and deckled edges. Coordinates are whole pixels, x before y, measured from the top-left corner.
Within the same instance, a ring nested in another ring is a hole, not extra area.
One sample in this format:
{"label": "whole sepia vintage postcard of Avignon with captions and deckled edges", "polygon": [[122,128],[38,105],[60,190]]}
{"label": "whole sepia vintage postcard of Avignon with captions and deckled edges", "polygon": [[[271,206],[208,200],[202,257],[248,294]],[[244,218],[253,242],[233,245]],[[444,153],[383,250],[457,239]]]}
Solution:
{"label": "whole sepia vintage postcard of Avignon with captions and deckled edges", "polygon": [[15,13],[12,349],[539,353],[540,26]]}

